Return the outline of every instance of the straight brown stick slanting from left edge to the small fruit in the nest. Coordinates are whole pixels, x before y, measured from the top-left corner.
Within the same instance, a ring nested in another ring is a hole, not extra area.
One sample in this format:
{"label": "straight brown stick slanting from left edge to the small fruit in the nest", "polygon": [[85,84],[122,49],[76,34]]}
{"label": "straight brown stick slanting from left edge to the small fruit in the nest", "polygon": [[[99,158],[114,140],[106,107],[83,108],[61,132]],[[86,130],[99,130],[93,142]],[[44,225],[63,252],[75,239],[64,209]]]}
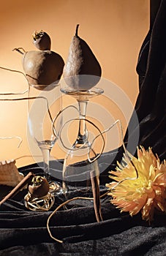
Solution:
{"label": "straight brown stick slanting from left edge to the small fruit in the nest", "polygon": [[20,189],[23,189],[23,187],[26,186],[26,184],[28,184],[31,181],[31,178],[34,177],[34,173],[28,173],[23,179],[22,181],[20,181],[18,183],[17,186],[14,187],[14,189],[12,189],[12,191],[6,195],[6,197],[4,197],[1,201],[0,201],[0,206],[2,203],[6,202],[7,199],[10,199],[12,197],[14,197],[16,194],[18,194],[18,192],[20,192]]}

